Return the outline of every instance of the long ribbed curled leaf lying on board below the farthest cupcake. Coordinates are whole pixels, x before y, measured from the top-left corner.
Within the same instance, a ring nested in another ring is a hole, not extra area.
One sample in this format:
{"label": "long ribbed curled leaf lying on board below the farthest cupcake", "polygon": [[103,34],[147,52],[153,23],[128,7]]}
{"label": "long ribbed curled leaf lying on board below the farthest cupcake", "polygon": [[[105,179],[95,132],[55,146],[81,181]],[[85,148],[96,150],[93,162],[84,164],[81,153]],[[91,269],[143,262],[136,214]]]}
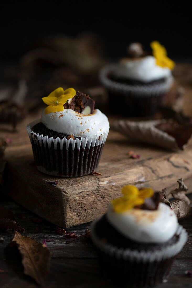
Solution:
{"label": "long ribbed curled leaf lying on board below the farthest cupcake", "polygon": [[129,138],[161,146],[167,149],[183,149],[192,134],[191,122],[178,124],[174,121],[115,121],[111,129]]}

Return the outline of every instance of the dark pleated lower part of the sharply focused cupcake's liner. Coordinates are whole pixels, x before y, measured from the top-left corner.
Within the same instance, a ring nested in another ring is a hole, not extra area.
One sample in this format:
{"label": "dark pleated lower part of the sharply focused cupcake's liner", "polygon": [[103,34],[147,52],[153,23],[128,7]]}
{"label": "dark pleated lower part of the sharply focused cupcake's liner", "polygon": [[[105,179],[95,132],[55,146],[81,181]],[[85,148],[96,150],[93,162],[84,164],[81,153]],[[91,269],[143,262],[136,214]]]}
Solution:
{"label": "dark pleated lower part of the sharply focused cupcake's liner", "polygon": [[57,149],[54,149],[54,143],[49,148],[48,145],[45,147],[32,142],[32,149],[37,168],[41,172],[62,177],[79,177],[89,175],[97,168],[104,144],[90,148],[85,146],[85,149],[82,144],[77,149],[76,144],[72,150],[70,143],[67,150],[64,143],[61,150],[59,143]]}

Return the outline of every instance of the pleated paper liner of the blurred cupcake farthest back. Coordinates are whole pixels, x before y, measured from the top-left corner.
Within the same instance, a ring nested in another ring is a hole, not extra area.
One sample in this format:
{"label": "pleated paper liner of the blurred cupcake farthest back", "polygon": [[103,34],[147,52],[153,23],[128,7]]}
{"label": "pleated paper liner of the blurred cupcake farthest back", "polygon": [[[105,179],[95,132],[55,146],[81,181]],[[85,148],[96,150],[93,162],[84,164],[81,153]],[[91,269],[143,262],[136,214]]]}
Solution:
{"label": "pleated paper liner of the blurred cupcake farthest back", "polygon": [[109,93],[109,106],[116,114],[127,116],[149,116],[156,113],[163,95],[171,88],[174,78],[164,82],[146,85],[128,85],[113,81],[109,75],[118,64],[109,64],[100,71],[99,78]]}

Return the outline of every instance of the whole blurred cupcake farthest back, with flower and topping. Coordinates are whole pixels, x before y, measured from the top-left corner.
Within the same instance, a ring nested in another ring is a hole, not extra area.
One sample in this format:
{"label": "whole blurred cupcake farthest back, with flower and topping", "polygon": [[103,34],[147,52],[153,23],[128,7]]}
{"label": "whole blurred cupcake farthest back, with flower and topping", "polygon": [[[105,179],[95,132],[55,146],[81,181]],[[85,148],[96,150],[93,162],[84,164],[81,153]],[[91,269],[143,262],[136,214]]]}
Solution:
{"label": "whole blurred cupcake farthest back, with flower and topping", "polygon": [[132,43],[128,47],[128,58],[100,71],[100,81],[108,91],[112,112],[128,117],[153,115],[163,95],[171,88],[175,64],[158,41],[150,46],[152,52],[147,54],[140,43]]}

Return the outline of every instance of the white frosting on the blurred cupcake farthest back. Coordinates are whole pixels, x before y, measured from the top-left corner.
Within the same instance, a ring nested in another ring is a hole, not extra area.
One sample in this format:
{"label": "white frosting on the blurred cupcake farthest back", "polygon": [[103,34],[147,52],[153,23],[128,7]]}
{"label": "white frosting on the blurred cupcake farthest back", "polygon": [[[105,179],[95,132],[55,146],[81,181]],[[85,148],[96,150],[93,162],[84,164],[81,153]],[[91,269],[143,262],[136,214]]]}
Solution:
{"label": "white frosting on the blurred cupcake farthest back", "polygon": [[141,82],[150,82],[172,75],[171,69],[156,65],[154,56],[146,56],[138,59],[121,60],[113,74],[116,77],[127,78]]}

